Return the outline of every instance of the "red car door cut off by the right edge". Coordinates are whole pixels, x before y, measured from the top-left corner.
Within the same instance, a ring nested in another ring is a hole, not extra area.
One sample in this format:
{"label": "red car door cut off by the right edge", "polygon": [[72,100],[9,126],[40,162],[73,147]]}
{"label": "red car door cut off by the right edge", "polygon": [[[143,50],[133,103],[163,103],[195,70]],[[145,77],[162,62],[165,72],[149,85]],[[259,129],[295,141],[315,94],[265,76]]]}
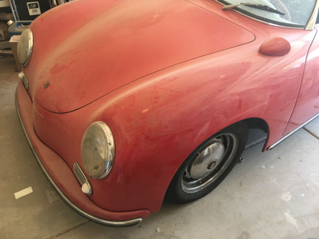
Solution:
{"label": "red car door cut off by the right edge", "polygon": [[317,31],[309,49],[304,76],[297,102],[284,135],[303,123],[319,116],[319,17],[314,31]]}

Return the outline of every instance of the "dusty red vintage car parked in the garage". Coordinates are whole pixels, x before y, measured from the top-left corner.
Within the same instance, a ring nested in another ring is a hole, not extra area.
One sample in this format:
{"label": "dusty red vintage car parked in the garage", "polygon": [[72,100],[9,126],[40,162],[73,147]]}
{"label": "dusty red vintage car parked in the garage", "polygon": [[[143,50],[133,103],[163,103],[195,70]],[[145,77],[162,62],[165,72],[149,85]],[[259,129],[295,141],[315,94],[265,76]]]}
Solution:
{"label": "dusty red vintage car parked in the garage", "polygon": [[[242,3],[244,2],[244,3]],[[16,108],[61,198],[131,226],[203,197],[248,128],[271,149],[319,116],[318,0],[76,0],[18,43]]]}

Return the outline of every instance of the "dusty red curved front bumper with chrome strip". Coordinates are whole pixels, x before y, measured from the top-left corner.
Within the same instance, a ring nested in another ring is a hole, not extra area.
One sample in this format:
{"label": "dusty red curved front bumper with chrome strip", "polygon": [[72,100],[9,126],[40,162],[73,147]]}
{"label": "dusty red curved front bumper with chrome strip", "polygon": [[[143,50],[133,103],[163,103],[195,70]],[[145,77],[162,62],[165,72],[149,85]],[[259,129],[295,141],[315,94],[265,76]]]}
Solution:
{"label": "dusty red curved front bumper with chrome strip", "polygon": [[66,162],[37,137],[32,122],[32,102],[20,81],[15,92],[15,107],[26,140],[44,175],[62,200],[83,217],[112,227],[134,226],[147,217],[148,210],[110,212],[94,204],[81,187]]}

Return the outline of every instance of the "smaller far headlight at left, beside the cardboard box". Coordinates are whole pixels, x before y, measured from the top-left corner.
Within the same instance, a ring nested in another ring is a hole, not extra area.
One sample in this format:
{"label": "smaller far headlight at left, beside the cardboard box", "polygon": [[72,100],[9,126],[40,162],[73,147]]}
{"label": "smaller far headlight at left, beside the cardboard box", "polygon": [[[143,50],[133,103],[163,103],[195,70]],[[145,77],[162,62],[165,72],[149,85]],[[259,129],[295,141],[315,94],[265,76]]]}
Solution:
{"label": "smaller far headlight at left, beside the cardboard box", "polygon": [[33,48],[33,34],[30,29],[24,30],[17,46],[18,60],[23,66],[27,66],[30,62]]}

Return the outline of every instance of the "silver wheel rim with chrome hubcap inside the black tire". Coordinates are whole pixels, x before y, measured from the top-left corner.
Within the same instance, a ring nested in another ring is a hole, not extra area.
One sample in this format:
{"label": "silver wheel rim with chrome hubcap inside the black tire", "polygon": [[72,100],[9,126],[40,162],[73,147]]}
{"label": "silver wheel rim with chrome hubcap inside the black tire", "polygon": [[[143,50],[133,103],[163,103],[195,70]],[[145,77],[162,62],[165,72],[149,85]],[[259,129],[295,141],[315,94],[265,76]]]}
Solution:
{"label": "silver wheel rim with chrome hubcap inside the black tire", "polygon": [[238,147],[233,133],[218,135],[187,165],[181,188],[186,193],[198,192],[213,183],[229,166]]}

